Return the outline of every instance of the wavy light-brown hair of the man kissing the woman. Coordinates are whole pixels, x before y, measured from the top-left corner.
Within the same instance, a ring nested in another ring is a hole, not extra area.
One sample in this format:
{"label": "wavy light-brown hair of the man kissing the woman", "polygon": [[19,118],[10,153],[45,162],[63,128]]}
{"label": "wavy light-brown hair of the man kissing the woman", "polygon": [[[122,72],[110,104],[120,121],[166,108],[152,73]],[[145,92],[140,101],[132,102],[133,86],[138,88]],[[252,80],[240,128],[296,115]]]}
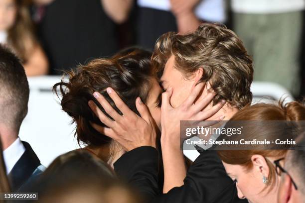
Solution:
{"label": "wavy light-brown hair of the man kissing the woman", "polygon": [[243,42],[225,25],[203,23],[186,35],[176,32],[161,35],[152,56],[159,76],[171,55],[175,56],[175,68],[186,78],[203,69],[200,81],[211,84],[217,94],[214,104],[222,99],[238,108],[251,103],[252,58]]}

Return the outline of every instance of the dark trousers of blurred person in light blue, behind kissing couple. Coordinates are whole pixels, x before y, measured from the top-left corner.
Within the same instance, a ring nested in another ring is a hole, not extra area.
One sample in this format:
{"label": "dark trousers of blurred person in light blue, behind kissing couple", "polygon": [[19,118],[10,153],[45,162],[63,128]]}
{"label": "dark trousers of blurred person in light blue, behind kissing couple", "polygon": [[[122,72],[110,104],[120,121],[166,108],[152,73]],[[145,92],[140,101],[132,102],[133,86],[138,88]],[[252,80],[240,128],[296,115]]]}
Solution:
{"label": "dark trousers of blurred person in light blue, behind kissing couple", "polygon": [[170,11],[139,7],[138,12],[137,44],[145,49],[152,51],[160,35],[178,29]]}

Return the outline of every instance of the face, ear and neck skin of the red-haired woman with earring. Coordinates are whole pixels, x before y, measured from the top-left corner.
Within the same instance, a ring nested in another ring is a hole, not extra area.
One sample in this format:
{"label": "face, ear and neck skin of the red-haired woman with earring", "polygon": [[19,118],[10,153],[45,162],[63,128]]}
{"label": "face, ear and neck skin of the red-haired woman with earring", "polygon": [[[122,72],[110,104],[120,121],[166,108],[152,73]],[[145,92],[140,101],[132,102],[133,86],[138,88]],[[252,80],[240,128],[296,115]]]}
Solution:
{"label": "face, ear and neck skin of the red-haired woman with earring", "polygon": [[[267,158],[273,162],[274,158]],[[247,199],[250,203],[277,203],[279,176],[276,175],[275,185],[267,188],[263,183],[263,176],[268,177],[270,169],[265,158],[261,155],[251,157],[252,168],[246,170],[244,166],[222,162],[228,176],[236,181],[237,195],[240,199]]]}

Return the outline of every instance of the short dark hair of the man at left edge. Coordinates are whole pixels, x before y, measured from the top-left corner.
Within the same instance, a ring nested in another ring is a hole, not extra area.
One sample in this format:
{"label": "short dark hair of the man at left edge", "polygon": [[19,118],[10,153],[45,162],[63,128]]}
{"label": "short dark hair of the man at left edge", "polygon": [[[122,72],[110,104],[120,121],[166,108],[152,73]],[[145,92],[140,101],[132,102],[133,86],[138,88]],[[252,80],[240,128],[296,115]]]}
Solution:
{"label": "short dark hair of the man at left edge", "polygon": [[27,114],[28,97],[28,82],[20,60],[0,45],[0,122],[19,130]]}

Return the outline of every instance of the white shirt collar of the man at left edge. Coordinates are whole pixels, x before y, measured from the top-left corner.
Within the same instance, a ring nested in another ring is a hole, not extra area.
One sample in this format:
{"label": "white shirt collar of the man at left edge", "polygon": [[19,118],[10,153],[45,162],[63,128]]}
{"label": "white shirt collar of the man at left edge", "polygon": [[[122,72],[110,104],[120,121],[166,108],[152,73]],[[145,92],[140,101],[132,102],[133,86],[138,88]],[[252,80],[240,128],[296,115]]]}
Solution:
{"label": "white shirt collar of the man at left edge", "polygon": [[14,165],[24,153],[25,148],[18,137],[8,148],[3,151],[3,159],[6,166],[6,174],[12,170]]}

